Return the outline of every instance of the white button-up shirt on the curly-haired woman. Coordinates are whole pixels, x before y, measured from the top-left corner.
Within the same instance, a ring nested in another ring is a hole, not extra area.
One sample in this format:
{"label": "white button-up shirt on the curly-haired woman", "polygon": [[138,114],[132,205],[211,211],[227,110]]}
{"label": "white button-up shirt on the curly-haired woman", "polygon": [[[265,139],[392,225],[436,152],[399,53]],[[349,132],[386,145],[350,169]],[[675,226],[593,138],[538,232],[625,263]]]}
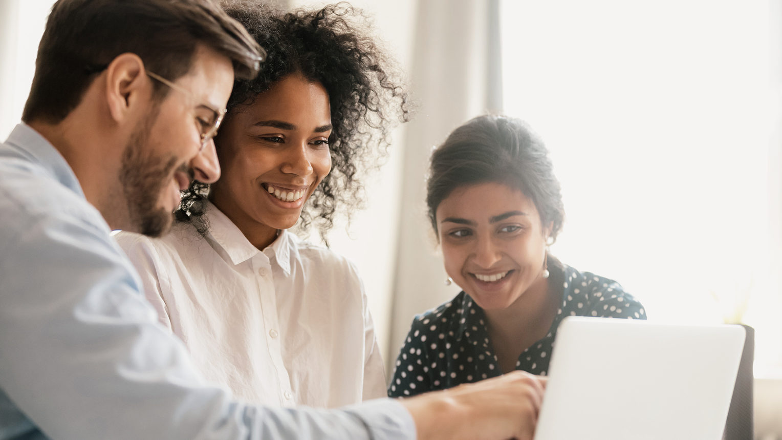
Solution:
{"label": "white button-up shirt on the curly-haired woman", "polygon": [[206,237],[115,238],[160,322],[207,380],[239,399],[333,408],[386,395],[364,286],[353,264],[282,231],[264,251],[212,204]]}

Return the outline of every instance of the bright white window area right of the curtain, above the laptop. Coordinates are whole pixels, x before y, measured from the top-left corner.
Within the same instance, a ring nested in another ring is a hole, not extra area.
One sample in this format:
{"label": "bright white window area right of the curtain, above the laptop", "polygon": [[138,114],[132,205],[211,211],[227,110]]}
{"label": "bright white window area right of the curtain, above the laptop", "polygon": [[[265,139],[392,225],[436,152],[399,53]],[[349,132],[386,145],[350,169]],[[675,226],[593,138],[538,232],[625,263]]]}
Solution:
{"label": "bright white window area right of the curtain, above the laptop", "polygon": [[562,186],[552,253],[617,280],[650,319],[752,325],[756,370],[782,367],[769,2],[502,8],[505,112],[547,144]]}

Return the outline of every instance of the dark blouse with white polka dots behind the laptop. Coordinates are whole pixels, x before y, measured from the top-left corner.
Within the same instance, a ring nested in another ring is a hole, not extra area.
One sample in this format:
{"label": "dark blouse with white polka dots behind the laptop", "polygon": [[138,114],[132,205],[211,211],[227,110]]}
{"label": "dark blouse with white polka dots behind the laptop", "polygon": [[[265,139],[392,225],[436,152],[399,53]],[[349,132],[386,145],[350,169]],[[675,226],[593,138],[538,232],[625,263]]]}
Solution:
{"label": "dark blouse with white polka dots behind the laptop", "polygon": [[[550,291],[561,294],[562,305],[546,337],[518,357],[516,370],[546,375],[557,328],[565,316],[646,319],[643,306],[622,290],[619,283],[561,263],[549,265],[549,269],[550,285],[557,287]],[[396,359],[389,396],[407,397],[500,374],[486,329],[486,316],[461,291],[453,300],[413,319]]]}

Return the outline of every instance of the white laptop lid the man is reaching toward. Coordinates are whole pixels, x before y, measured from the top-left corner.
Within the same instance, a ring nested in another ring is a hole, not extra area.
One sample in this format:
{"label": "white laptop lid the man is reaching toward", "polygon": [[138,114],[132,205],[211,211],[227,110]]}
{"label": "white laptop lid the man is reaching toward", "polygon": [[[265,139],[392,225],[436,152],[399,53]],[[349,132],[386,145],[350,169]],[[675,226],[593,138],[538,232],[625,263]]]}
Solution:
{"label": "white laptop lid the man is reaching toward", "polygon": [[744,327],[569,316],[535,440],[719,440]]}

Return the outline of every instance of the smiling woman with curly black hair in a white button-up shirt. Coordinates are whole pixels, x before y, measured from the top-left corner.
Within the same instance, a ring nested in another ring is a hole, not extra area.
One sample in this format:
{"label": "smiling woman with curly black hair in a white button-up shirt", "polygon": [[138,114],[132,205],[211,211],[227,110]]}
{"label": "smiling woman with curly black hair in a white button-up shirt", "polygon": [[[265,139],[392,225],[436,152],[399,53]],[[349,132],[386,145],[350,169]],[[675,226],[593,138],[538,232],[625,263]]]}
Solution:
{"label": "smiling woman with curly black hair in a white button-up shirt", "polygon": [[346,258],[301,240],[359,204],[357,172],[406,121],[406,95],[349,5],[282,13],[225,5],[267,50],[235,82],[215,138],[222,177],[193,182],[172,233],[117,234],[160,322],[207,380],[273,406],[386,395],[364,287]]}

